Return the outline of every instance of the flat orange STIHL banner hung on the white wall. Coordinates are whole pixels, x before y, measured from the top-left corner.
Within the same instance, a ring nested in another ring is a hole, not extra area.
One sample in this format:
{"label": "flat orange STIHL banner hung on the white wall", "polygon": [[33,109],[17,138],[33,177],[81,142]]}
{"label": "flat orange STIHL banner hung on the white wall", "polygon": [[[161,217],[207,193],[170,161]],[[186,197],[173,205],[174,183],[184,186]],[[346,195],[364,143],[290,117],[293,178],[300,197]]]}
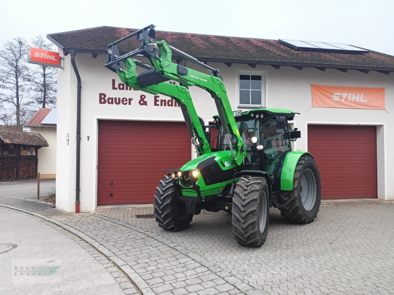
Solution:
{"label": "flat orange STIHL banner hung on the white wall", "polygon": [[312,107],[385,109],[385,89],[311,85]]}

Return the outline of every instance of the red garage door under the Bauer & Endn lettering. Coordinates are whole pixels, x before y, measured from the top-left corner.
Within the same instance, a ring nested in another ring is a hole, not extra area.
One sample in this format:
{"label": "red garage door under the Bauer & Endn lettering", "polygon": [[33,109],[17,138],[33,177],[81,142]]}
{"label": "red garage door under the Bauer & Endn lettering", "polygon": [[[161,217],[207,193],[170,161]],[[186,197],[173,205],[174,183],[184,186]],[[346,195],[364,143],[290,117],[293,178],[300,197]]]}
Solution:
{"label": "red garage door under the Bauer & Endn lettering", "polygon": [[100,120],[97,204],[153,203],[164,170],[190,159],[185,123]]}

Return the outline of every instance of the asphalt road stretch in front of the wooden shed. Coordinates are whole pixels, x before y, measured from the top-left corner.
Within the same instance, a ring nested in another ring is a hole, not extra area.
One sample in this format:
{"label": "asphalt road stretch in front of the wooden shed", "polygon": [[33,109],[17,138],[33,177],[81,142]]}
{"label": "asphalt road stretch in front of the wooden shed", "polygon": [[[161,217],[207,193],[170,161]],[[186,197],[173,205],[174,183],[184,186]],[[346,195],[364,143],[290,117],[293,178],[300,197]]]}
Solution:
{"label": "asphalt road stretch in front of the wooden shed", "polygon": [[[40,180],[40,197],[48,197],[55,192],[55,179]],[[0,196],[32,199],[37,198],[37,180],[0,183]]]}

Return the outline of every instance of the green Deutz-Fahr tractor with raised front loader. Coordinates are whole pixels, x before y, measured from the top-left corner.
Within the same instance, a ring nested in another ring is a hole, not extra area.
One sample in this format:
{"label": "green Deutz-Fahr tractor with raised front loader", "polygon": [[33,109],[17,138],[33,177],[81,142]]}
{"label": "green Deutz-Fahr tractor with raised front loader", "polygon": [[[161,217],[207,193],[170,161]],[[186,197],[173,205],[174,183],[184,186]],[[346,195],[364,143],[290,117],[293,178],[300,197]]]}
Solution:
{"label": "green Deutz-Fahr tractor with raised front loader", "polygon": [[[120,55],[117,44],[132,36],[142,41],[141,46]],[[173,54],[212,75],[173,63]],[[137,55],[150,64],[133,59]],[[197,158],[159,181],[154,214],[160,227],[184,230],[201,210],[224,210],[232,214],[236,241],[256,247],[266,239],[270,207],[277,207],[294,223],[310,223],[317,216],[321,181],[316,163],[310,153],[292,151],[291,141],[300,137],[300,131],[289,126],[296,113],[268,108],[232,112],[219,70],[164,40],[156,41],[153,25],[108,45],[105,66],[129,87],[174,98],[196,148]],[[146,70],[137,74],[136,66]],[[169,80],[180,85],[166,83]],[[218,115],[213,124],[204,125],[197,116],[191,86],[206,90],[214,99]]]}

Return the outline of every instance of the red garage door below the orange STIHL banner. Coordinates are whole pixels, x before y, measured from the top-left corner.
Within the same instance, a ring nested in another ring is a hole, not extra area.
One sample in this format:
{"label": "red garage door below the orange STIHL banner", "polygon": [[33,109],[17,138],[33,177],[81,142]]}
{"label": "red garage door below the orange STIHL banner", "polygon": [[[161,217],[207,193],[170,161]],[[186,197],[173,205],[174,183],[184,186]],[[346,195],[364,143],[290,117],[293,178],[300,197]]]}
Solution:
{"label": "red garage door below the orange STIHL banner", "polygon": [[376,127],[308,125],[323,199],[376,198]]}

